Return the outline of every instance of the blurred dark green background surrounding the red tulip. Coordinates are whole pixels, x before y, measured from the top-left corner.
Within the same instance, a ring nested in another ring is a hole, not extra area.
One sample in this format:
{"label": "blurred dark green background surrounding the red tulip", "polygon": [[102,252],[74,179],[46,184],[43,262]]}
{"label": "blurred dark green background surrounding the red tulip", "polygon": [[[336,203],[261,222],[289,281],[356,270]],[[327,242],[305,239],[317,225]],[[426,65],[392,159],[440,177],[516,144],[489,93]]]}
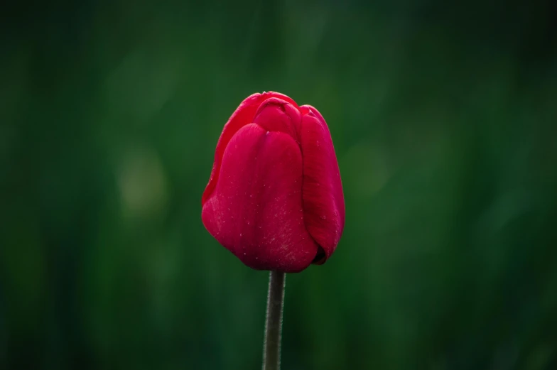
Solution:
{"label": "blurred dark green background surrounding the red tulip", "polygon": [[6,4],[0,369],[259,369],[200,199],[249,94],[328,121],[346,227],[283,369],[557,369],[554,2]]}

